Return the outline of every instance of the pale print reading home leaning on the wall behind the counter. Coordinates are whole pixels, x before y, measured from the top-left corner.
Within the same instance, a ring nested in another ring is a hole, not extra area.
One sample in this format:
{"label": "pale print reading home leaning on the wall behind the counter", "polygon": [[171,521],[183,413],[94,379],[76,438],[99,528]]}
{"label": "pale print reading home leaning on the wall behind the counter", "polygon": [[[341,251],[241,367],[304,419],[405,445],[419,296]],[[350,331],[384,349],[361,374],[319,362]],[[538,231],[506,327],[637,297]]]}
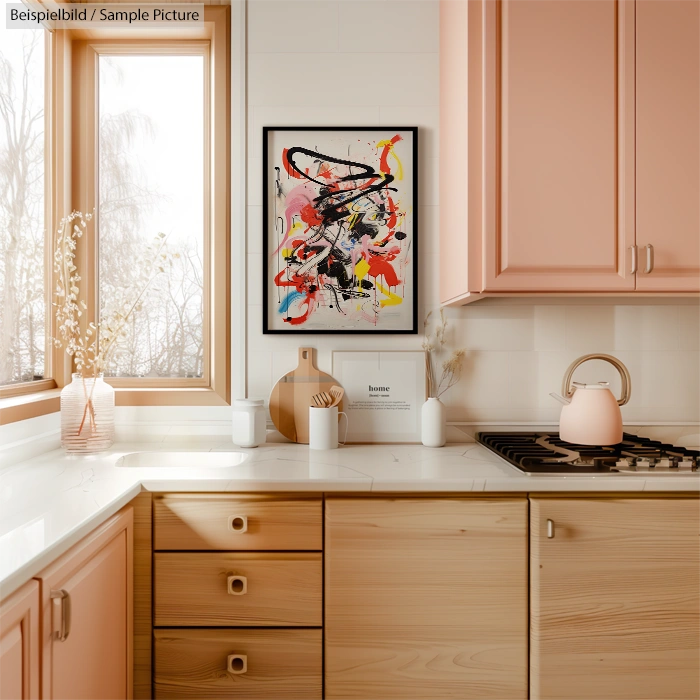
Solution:
{"label": "pale print reading home leaning on the wall behind the counter", "polygon": [[347,442],[420,442],[425,352],[334,352],[333,377],[345,389]]}

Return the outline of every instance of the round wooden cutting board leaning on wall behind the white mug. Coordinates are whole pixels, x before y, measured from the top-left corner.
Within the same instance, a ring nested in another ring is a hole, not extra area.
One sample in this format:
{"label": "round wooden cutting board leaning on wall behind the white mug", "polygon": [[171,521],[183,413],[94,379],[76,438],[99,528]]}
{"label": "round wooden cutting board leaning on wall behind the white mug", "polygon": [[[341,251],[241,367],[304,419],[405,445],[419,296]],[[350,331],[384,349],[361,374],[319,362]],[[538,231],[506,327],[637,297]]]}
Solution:
{"label": "round wooden cutting board leaning on wall behind the white mug", "polygon": [[277,430],[294,442],[308,444],[313,396],[330,392],[336,384],[333,377],[314,365],[313,348],[299,348],[299,366],[285,374],[270,394],[270,417]]}

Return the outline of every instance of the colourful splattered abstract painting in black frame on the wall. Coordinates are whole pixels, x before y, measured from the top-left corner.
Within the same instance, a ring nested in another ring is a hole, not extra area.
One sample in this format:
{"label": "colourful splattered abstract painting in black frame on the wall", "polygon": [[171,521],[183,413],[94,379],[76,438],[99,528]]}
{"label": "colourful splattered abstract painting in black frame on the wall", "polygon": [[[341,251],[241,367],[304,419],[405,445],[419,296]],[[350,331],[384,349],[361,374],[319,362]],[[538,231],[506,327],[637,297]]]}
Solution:
{"label": "colourful splattered abstract painting in black frame on the wall", "polygon": [[417,332],[417,141],[264,127],[263,332]]}

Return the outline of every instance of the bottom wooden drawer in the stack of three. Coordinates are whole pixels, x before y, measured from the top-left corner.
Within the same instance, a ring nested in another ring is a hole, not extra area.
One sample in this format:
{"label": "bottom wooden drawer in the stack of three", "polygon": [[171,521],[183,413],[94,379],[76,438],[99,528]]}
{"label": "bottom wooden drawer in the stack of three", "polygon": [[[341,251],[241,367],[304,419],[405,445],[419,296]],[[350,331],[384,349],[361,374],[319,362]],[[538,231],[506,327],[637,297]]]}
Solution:
{"label": "bottom wooden drawer in the stack of three", "polygon": [[[161,629],[154,634],[156,700],[321,700],[321,630]],[[232,655],[237,659],[229,672]]]}

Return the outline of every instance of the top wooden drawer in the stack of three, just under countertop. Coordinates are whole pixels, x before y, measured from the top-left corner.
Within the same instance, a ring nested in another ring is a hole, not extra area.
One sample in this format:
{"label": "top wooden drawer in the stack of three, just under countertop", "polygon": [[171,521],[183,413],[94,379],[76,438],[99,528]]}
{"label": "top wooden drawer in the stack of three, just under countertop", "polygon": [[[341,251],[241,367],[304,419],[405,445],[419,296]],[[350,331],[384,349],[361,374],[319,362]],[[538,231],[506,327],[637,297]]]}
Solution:
{"label": "top wooden drawer in the stack of three, just under countertop", "polygon": [[153,500],[154,549],[320,551],[320,498],[167,494]]}

